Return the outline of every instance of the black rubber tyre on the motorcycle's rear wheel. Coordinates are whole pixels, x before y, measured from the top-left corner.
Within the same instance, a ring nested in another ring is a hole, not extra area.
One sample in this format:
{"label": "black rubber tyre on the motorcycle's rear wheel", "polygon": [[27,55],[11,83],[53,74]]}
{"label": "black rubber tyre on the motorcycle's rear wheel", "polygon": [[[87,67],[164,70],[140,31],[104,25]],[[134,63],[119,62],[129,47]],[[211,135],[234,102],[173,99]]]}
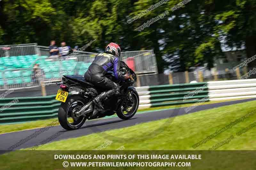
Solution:
{"label": "black rubber tyre on the motorcycle's rear wheel", "polygon": [[86,117],[80,116],[80,117],[77,117],[78,118],[77,122],[74,122],[73,124],[68,122],[68,116],[70,117],[70,111],[71,111],[69,109],[72,109],[71,104],[75,105],[74,102],[77,102],[79,106],[80,105],[82,106],[88,103],[87,100],[85,100],[82,96],[78,94],[73,94],[68,96],[66,102],[61,103],[61,106],[58,112],[58,119],[59,119],[60,125],[66,130],[79,129],[81,126],[83,126],[86,120]]}

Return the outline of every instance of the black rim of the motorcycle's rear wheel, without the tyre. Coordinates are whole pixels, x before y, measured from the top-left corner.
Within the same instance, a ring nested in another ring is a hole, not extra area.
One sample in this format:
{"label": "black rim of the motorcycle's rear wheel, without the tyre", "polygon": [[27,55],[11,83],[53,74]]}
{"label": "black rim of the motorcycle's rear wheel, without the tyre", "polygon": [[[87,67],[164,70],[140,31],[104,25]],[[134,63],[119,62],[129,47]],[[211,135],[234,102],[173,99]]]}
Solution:
{"label": "black rim of the motorcycle's rear wheel, without the tyre", "polygon": [[74,101],[71,103],[71,105],[68,107],[67,110],[67,123],[71,127],[79,126],[85,119],[84,116],[75,116],[75,111],[80,110],[84,106],[84,103],[80,100]]}

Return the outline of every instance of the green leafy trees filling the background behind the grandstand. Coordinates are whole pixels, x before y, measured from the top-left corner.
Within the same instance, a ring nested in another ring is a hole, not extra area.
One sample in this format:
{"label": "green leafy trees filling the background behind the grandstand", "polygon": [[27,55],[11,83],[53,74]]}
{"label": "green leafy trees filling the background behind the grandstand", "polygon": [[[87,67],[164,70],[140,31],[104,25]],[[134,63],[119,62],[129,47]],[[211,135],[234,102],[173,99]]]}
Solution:
{"label": "green leafy trees filling the background behind the grandstand", "polygon": [[[256,54],[253,44],[256,32],[254,0],[217,1],[191,0],[172,11],[181,0],[169,0],[146,11],[159,0],[2,0],[0,2],[0,43],[37,42],[69,46],[86,45],[96,40],[87,51],[99,52],[111,41],[123,51],[154,49],[158,71],[178,66],[174,71],[208,64],[221,57],[220,39],[225,37],[229,47],[244,44],[247,55]],[[168,10],[169,15],[145,27],[147,23]],[[132,23],[127,20],[142,15]]]}

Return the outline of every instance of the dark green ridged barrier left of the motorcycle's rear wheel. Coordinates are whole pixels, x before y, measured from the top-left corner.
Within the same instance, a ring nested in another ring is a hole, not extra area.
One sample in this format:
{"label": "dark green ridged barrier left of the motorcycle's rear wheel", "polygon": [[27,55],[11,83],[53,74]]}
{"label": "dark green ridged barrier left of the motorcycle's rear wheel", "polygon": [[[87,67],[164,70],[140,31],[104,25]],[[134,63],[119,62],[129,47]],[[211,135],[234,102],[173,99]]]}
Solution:
{"label": "dark green ridged barrier left of the motorcycle's rear wheel", "polygon": [[[0,99],[0,124],[48,119],[58,115],[60,102],[55,95],[46,97],[17,97]],[[11,107],[6,107],[13,100]],[[6,108],[3,108],[3,107]],[[2,109],[1,109],[2,108]]]}

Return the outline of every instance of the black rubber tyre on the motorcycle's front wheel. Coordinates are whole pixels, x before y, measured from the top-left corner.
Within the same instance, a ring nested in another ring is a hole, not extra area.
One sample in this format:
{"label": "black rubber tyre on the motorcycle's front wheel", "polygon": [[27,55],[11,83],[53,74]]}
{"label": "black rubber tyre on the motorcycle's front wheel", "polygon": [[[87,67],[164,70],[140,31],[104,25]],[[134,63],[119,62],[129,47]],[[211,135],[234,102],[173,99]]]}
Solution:
{"label": "black rubber tyre on the motorcycle's front wheel", "polygon": [[136,92],[136,90],[130,90],[131,94],[132,94],[132,99],[134,101],[133,106],[132,106],[132,110],[130,112],[127,112],[127,114],[123,113],[123,104],[121,104],[121,106],[118,108],[116,115],[123,120],[128,120],[130,118],[132,118],[132,116],[135,115],[135,113],[137,112],[138,108],[139,108],[139,103],[140,103],[140,98],[139,98],[139,94]]}

